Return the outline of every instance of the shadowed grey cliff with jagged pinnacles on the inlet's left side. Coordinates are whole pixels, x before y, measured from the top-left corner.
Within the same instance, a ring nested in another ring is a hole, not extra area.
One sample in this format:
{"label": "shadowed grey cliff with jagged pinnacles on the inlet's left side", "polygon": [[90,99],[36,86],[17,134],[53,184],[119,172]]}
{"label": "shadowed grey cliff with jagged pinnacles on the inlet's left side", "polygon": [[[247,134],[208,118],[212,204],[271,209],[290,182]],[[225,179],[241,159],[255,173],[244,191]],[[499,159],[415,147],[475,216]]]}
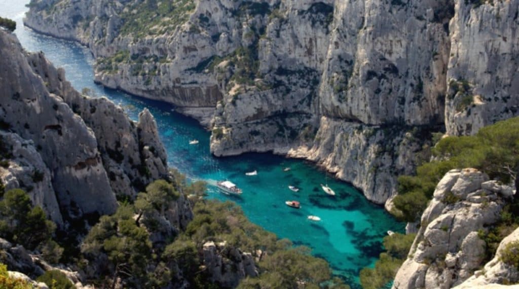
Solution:
{"label": "shadowed grey cliff with jagged pinnacles on the inlet's left side", "polygon": [[[24,52],[0,31],[0,121],[7,188],[21,187],[59,225],[110,214],[116,194],[134,195],[167,175],[165,150],[149,112],[129,120],[106,99],[75,91],[42,53]],[[30,177],[28,177],[30,176]]]}

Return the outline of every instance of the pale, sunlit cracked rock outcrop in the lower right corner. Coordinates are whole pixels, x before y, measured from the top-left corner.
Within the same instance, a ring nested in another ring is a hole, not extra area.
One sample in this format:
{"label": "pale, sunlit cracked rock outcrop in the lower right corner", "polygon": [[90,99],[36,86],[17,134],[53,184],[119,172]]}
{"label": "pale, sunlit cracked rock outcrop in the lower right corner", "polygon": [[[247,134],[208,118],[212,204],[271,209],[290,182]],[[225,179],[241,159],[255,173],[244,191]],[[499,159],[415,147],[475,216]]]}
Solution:
{"label": "pale, sunlit cracked rock outcrop in the lower right corner", "polygon": [[[488,181],[488,176],[474,169],[449,171],[436,186],[434,198],[421,217],[421,227],[411,251],[393,282],[393,288],[450,288],[469,283],[473,285],[502,283],[498,278],[506,267],[509,280],[517,280],[517,271],[500,263],[499,253],[485,265],[486,277],[480,269],[486,243],[479,232],[500,219],[501,209],[510,199],[511,187]],[[517,233],[507,237],[499,246],[517,240]],[[507,241],[508,240],[508,241]],[[501,266],[500,269],[496,266]],[[495,270],[491,271],[491,270]],[[474,275],[475,274],[475,275]],[[514,275],[515,274],[515,275]],[[515,279],[514,279],[515,278]],[[486,282],[486,283],[485,283]],[[513,281],[515,282],[515,281]]]}

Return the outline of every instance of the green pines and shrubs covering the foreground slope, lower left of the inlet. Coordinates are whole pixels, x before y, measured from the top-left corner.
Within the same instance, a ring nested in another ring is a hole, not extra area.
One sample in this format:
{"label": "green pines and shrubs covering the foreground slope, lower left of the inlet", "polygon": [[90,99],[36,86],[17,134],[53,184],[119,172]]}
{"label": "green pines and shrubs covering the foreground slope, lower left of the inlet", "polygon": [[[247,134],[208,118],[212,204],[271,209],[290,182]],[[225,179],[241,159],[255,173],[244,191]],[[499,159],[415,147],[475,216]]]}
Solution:
{"label": "green pines and shrubs covering the foreground slope, lower left of the inlet", "polygon": [[[196,288],[222,287],[223,284],[211,281],[212,271],[207,269],[210,265],[204,263],[204,245],[212,241],[225,244],[217,247],[216,254],[230,254],[226,262],[231,266],[241,261],[234,260],[228,250],[251,252],[256,259],[259,275],[243,279],[240,288],[280,284],[289,288],[302,282],[307,288],[348,288],[339,279],[332,279],[329,265],[311,256],[308,248],[295,247],[289,240],[279,240],[252,224],[235,203],[203,199],[204,183],[188,184],[174,170],[170,176],[169,181],[149,184],[135,200],[124,200],[115,214],[101,216],[83,241],[75,244],[64,244],[73,238],[62,239],[53,234],[56,226],[47,220],[41,208],[33,207],[23,190],[9,190],[0,201],[0,237],[42,252],[40,256],[53,264],[60,259],[66,261],[73,270],[85,272],[84,282],[105,287],[120,284],[160,288],[182,282]],[[185,199],[187,195],[190,200]],[[191,206],[194,217],[182,225],[181,214],[190,214]],[[53,239],[67,246],[65,258],[60,258],[63,249]],[[74,286],[63,273],[52,270],[38,281],[52,288]],[[0,276],[2,282],[15,284],[12,288],[25,288],[23,282]]]}

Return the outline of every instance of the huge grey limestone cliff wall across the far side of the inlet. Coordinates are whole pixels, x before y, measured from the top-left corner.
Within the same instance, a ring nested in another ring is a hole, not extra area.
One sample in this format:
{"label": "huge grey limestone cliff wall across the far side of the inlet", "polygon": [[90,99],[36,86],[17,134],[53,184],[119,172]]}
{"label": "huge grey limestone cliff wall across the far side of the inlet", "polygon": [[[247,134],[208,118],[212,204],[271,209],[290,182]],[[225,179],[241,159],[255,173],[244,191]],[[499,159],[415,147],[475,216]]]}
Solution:
{"label": "huge grey limestone cliff wall across the far side of the inlet", "polygon": [[378,203],[427,144],[407,131],[519,114],[517,0],[154,3],[34,0],[25,24],[88,45],[102,84],[212,123],[215,155],[311,159]]}

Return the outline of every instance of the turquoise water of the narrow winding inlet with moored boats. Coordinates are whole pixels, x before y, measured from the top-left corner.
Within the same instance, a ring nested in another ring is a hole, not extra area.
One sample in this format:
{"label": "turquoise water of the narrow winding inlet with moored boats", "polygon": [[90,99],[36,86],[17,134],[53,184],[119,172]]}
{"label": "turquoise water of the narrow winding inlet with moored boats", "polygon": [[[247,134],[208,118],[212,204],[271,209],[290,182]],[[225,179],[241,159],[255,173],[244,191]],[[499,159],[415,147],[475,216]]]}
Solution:
{"label": "turquoise water of the narrow winding inlet with moored boats", "polygon": [[[358,286],[360,269],[373,266],[382,250],[381,240],[386,231],[403,231],[402,223],[344,182],[329,178],[328,184],[337,196],[324,194],[319,184],[325,182],[325,172],[311,163],[271,154],[215,158],[209,152],[210,134],[195,120],[173,112],[171,105],[95,85],[93,59],[87,48],[36,34],[22,26],[24,5],[28,2],[0,0],[0,16],[18,22],[16,34],[25,49],[44,51],[54,65],[65,68],[67,79],[76,89],[87,87],[97,95],[105,95],[125,107],[132,119],[147,107],[157,120],[171,167],[209,184],[226,178],[233,181],[243,189],[242,196],[226,196],[210,186],[210,198],[235,201],[255,224],[295,244],[311,247],[312,254],[326,259],[334,273],[352,286]],[[192,139],[200,143],[189,145]],[[284,167],[292,170],[283,172]],[[245,176],[245,172],[253,170],[258,171],[257,176]],[[288,185],[296,185],[301,190],[292,192]],[[286,200],[298,200],[302,208],[286,207]],[[309,221],[307,215],[317,215],[322,221]]]}

